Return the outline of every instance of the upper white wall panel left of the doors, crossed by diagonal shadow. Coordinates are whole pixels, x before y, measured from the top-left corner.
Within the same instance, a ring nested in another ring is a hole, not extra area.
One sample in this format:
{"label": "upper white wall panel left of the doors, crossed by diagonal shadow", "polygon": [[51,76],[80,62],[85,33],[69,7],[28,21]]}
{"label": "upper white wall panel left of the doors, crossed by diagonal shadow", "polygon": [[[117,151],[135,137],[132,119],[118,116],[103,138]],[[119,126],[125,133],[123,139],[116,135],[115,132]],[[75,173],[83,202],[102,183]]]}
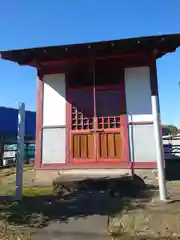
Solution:
{"label": "upper white wall panel left of the doors, crossed by diagonal shadow", "polygon": [[43,127],[66,125],[65,74],[45,75],[43,81]]}

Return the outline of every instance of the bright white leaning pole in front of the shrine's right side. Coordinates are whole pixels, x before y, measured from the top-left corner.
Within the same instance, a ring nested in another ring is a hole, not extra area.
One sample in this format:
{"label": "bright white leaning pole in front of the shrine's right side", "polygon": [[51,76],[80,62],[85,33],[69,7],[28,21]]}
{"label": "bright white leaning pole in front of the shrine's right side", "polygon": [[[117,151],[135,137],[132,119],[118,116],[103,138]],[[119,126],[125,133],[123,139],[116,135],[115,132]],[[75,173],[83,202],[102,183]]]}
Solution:
{"label": "bright white leaning pole in front of the shrine's right side", "polygon": [[165,201],[167,200],[167,188],[166,188],[165,171],[164,171],[163,143],[162,143],[162,134],[161,134],[161,120],[160,120],[158,96],[151,96],[151,102],[152,102],[152,114],[153,114],[153,124],[154,124],[154,136],[155,136],[155,143],[156,143],[159,196],[161,201]]}

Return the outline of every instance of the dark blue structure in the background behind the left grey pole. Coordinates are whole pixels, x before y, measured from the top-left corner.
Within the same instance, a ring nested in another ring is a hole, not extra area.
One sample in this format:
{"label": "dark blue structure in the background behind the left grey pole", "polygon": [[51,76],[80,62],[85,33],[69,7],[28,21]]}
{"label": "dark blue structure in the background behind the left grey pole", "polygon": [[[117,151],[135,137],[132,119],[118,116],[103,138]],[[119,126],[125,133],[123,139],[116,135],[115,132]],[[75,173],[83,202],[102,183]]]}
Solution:
{"label": "dark blue structure in the background behind the left grey pole", "polygon": [[[18,109],[0,107],[0,133],[17,134]],[[35,136],[36,112],[26,111],[25,134]]]}

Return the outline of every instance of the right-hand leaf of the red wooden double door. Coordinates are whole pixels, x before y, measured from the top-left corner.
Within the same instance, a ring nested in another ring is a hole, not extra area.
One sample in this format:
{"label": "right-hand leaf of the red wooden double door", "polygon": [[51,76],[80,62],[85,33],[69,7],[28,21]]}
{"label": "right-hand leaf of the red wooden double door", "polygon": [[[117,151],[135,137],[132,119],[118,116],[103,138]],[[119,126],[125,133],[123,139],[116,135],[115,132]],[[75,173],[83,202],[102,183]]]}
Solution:
{"label": "right-hand leaf of the red wooden double door", "polygon": [[97,161],[122,160],[120,86],[96,89]]}

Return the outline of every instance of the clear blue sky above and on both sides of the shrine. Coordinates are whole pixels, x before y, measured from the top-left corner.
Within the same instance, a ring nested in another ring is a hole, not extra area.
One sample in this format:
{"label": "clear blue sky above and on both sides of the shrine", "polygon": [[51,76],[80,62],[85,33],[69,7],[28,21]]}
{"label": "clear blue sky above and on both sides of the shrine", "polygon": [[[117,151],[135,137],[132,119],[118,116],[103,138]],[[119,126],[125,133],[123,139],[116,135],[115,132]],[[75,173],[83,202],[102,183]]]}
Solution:
{"label": "clear blue sky above and on both sides of the shrine", "polygon": [[[179,0],[6,0],[0,49],[180,33]],[[162,120],[180,127],[180,49],[158,60]],[[0,61],[0,105],[36,108],[36,71]]]}

